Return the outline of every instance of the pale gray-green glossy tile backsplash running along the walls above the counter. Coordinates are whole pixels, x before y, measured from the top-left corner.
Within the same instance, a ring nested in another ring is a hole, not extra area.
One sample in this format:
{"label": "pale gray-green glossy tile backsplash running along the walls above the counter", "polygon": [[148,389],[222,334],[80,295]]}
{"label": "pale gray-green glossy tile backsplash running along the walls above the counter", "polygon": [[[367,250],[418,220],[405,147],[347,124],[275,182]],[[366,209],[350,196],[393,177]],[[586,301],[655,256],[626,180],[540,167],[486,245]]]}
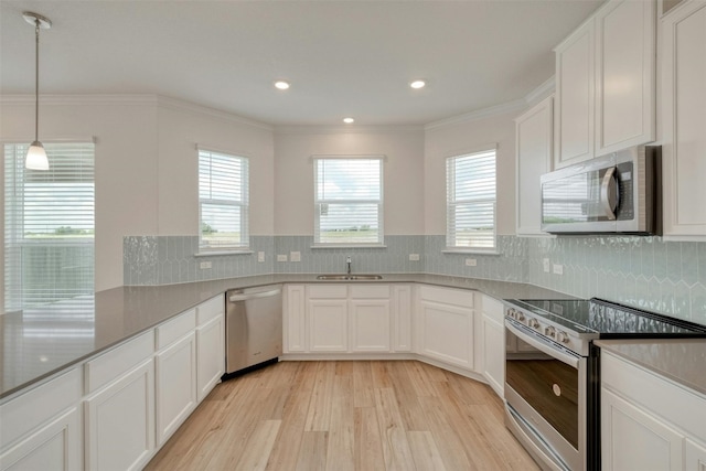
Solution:
{"label": "pale gray-green glossy tile backsplash running along the walls above the counter", "polygon": [[[706,324],[706,243],[661,237],[499,236],[500,255],[445,251],[443,235],[387,236],[381,248],[312,248],[311,236],[253,236],[243,255],[194,256],[196,236],[124,239],[125,285],[170,285],[265,274],[427,272],[527,282]],[[258,253],[265,261],[258,261]],[[291,261],[299,253],[300,261]],[[409,260],[418,254],[419,260]],[[277,261],[277,256],[287,261]],[[295,254],[296,255],[296,254]],[[475,260],[475,266],[466,260]],[[544,270],[548,259],[549,271]],[[201,263],[211,268],[202,269]],[[560,266],[561,275],[554,268]]]}

